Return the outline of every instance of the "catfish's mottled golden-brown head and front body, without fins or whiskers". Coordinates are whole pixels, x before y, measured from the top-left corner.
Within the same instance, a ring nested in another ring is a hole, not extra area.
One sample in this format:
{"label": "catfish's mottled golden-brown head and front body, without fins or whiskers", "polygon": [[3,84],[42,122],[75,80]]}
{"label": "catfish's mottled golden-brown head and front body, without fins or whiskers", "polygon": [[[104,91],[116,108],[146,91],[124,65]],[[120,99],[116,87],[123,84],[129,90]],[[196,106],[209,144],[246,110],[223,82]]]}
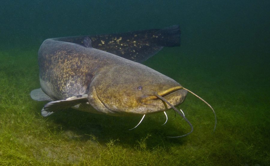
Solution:
{"label": "catfish's mottled golden-brown head and front body, without fins or whiskers", "polygon": [[41,89],[54,100],[88,94],[88,102],[74,108],[125,116],[170,108],[154,94],[172,105],[182,103],[187,95],[175,80],[147,66],[60,40],[46,39],[38,52]]}

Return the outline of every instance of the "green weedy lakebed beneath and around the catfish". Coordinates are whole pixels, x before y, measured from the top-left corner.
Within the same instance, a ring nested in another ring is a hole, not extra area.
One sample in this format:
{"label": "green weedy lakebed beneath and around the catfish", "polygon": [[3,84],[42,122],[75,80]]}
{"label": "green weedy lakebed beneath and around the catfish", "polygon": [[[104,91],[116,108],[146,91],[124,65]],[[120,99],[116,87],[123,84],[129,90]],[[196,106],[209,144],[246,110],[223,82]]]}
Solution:
{"label": "green weedy lakebed beneath and around the catfish", "polygon": [[[249,70],[251,60],[238,66],[238,57],[233,64],[228,59],[207,67],[199,63],[211,60],[202,56],[184,60],[187,53],[182,52],[179,71],[178,64],[172,63],[179,58],[179,50],[165,49],[147,61],[147,66],[208,101],[217,114],[213,133],[211,110],[188,95],[177,108],[184,110],[194,131],[183,138],[167,138],[190,130],[182,118],[174,119],[173,110],[167,111],[169,120],[164,126],[166,119],[160,113],[146,116],[134,130],[128,129],[141,117],[112,117],[73,109],[42,117],[44,103],[33,101],[29,95],[39,87],[37,50],[38,46],[0,52],[0,165],[270,164],[270,95],[266,81],[252,79],[265,75],[259,74],[260,67]],[[170,57],[165,58],[165,54]],[[219,69],[227,64],[232,67]],[[242,84],[243,80],[249,82]]]}

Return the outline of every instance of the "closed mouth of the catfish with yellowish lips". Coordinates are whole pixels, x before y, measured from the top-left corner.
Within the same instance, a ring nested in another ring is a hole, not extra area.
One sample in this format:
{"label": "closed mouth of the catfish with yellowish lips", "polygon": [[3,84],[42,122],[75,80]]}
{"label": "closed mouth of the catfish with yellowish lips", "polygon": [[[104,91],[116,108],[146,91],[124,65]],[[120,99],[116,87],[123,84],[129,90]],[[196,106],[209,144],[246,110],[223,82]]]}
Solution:
{"label": "closed mouth of the catfish with yellowish lips", "polygon": [[161,92],[154,92],[153,94],[143,96],[142,99],[141,99],[141,102],[144,103],[144,102],[147,102],[149,100],[159,100],[160,98],[158,98],[155,94],[158,94],[161,97],[166,98],[167,96],[169,97],[170,95],[172,95],[174,92],[182,90],[182,89],[183,89],[182,86],[176,86],[176,87],[173,87],[173,88],[161,91]]}

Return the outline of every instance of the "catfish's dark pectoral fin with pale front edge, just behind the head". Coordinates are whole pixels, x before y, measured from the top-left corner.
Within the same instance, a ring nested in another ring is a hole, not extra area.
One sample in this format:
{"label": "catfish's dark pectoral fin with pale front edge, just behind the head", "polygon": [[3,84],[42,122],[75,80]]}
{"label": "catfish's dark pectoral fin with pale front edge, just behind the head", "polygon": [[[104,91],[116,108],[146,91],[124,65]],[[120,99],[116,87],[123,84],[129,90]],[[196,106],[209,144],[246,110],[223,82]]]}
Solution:
{"label": "catfish's dark pectoral fin with pale front edge, just behind the head", "polygon": [[51,101],[45,104],[45,106],[41,110],[41,115],[46,117],[46,116],[51,115],[55,111],[67,109],[79,103],[88,102],[87,98],[88,98],[88,95],[84,94],[84,95],[72,96],[70,98],[67,98],[66,100]]}

